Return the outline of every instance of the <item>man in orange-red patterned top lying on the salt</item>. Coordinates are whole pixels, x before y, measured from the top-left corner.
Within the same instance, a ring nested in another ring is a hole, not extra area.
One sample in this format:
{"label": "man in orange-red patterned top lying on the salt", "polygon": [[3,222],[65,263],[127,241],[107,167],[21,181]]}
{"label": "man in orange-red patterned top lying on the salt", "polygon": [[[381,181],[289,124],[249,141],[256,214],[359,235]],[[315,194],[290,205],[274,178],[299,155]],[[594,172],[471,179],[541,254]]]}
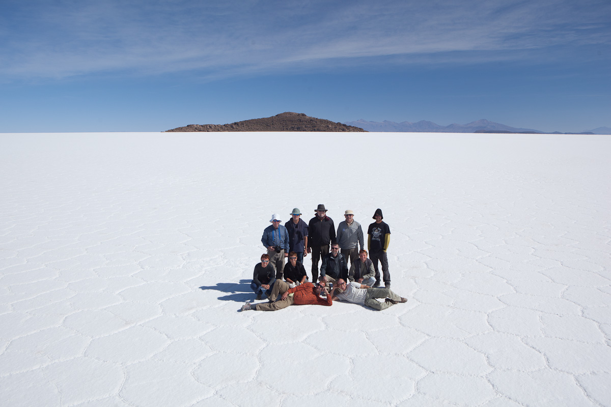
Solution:
{"label": "man in orange-red patterned top lying on the salt", "polygon": [[[327,298],[320,297],[320,295],[323,293],[326,294]],[[300,286],[288,288],[288,284],[285,283],[285,281],[277,279],[269,298],[273,300],[277,298],[279,294],[282,294],[282,297],[280,297],[280,300],[278,301],[267,304],[246,303],[242,306],[242,311],[247,311],[249,309],[256,309],[257,311],[277,311],[278,309],[287,308],[289,305],[293,304],[318,304],[329,306],[333,304],[331,294],[329,294],[327,291],[324,281],[316,284],[316,286],[309,281],[306,281]]]}

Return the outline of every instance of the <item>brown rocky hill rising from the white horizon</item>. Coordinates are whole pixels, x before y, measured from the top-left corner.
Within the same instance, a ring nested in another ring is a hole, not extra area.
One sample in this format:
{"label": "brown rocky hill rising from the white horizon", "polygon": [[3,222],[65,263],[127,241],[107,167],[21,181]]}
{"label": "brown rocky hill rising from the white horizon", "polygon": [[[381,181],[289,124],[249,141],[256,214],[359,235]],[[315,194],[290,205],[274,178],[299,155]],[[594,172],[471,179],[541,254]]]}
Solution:
{"label": "brown rocky hill rising from the white horizon", "polygon": [[365,131],[348,124],[284,112],[272,117],[236,121],[230,124],[189,124],[167,131]]}

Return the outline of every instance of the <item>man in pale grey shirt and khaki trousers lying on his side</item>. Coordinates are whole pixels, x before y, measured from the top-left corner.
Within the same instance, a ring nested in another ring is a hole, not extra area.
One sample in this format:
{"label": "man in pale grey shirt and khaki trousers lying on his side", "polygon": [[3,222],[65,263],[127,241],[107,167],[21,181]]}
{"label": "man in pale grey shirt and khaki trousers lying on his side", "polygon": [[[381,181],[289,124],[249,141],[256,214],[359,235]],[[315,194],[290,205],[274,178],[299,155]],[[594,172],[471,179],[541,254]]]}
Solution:
{"label": "man in pale grey shirt and khaki trousers lying on his side", "polygon": [[[407,298],[399,297],[388,288],[371,288],[364,284],[353,281],[346,285],[343,278],[337,280],[335,287],[331,290],[333,300],[347,301],[353,304],[363,304],[381,311],[397,303],[408,302]],[[384,302],[376,298],[386,298]]]}

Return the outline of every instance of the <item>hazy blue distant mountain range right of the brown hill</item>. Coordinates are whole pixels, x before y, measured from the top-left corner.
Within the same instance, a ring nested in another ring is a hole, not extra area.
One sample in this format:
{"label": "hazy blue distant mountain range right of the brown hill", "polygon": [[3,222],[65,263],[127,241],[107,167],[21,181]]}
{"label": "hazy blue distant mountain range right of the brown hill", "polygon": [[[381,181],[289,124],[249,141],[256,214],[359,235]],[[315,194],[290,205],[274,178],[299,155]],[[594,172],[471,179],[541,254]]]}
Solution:
{"label": "hazy blue distant mountain range right of the brown hill", "polygon": [[[432,121],[420,120],[415,123],[410,121],[402,121],[397,123],[395,121],[384,120],[379,121],[345,121],[344,124],[349,126],[360,127],[367,131],[380,131],[380,132],[438,132],[438,133],[541,133],[544,131],[535,129],[522,129],[507,126],[507,124],[494,123],[486,119],[472,121],[467,124],[452,123],[448,126],[440,126]],[[581,133],[561,133],[554,132],[551,134],[611,134],[611,128],[600,127],[597,129],[584,131]]]}

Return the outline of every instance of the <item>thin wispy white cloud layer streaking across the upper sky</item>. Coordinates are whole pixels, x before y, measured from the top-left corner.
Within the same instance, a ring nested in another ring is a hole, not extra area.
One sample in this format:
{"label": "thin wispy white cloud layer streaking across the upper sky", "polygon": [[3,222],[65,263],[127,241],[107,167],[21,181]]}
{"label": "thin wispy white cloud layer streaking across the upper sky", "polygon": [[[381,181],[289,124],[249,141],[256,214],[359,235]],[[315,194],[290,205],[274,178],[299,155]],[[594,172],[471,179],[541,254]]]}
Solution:
{"label": "thin wispy white cloud layer streaking across the upper sky", "polygon": [[608,1],[202,3],[9,0],[0,16],[0,75],[227,76],[389,56],[417,63],[464,52],[497,60],[611,44]]}

